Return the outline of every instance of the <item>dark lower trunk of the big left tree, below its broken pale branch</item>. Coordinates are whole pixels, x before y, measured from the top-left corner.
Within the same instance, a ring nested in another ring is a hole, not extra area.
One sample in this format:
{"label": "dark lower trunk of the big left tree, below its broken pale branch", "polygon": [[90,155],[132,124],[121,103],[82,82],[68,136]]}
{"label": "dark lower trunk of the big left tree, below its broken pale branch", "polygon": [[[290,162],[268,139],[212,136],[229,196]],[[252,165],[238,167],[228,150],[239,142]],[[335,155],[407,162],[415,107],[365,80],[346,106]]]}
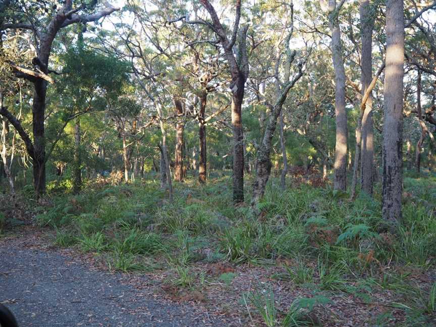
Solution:
{"label": "dark lower trunk of the big left tree, below its broken pale branch", "polygon": [[[47,56],[48,63],[48,56]],[[45,95],[47,93],[47,82],[37,80],[34,83],[32,105],[32,125],[33,125],[33,186],[36,196],[45,194]]]}

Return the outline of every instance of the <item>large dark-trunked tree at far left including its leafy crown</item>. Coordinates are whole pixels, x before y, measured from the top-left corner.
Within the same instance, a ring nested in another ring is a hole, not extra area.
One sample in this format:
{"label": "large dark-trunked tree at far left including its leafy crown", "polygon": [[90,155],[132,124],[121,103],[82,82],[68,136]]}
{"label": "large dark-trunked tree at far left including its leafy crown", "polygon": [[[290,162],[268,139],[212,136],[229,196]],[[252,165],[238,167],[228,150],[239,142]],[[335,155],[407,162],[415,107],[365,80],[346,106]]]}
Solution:
{"label": "large dark-trunked tree at far left including its leafy crown", "polygon": [[[100,18],[112,14],[118,10],[107,2],[105,8],[98,10],[96,1],[85,2],[73,6],[73,0],[65,1],[7,1],[4,11],[11,13],[3,20],[0,30],[26,29],[32,33],[35,40],[35,57],[32,60],[34,69],[23,68],[14,63],[12,67],[16,76],[24,78],[34,85],[32,123],[33,141],[22,128],[20,122],[6,108],[0,114],[6,117],[17,129],[26,144],[29,156],[33,160],[34,188],[37,195],[45,193],[45,104],[47,84],[53,83],[48,75],[53,71],[49,68],[52,44],[58,32],[75,23],[95,22]],[[97,10],[97,11],[95,11]],[[27,64],[30,66],[30,63]]]}

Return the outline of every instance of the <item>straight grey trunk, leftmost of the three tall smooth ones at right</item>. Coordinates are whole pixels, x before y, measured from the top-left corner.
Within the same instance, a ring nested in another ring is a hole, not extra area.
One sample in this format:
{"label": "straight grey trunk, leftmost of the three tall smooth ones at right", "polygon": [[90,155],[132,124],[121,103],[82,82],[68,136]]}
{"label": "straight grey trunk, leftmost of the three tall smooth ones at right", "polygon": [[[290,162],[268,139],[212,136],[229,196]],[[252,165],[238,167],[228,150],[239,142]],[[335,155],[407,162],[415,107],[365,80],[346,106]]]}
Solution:
{"label": "straight grey trunk, leftmost of the three tall smooth ones at right", "polygon": [[[330,10],[332,8],[332,10]],[[332,58],[335,70],[335,190],[347,189],[347,112],[345,108],[345,69],[342,58],[341,30],[336,0],[329,1],[329,21],[332,30]]]}

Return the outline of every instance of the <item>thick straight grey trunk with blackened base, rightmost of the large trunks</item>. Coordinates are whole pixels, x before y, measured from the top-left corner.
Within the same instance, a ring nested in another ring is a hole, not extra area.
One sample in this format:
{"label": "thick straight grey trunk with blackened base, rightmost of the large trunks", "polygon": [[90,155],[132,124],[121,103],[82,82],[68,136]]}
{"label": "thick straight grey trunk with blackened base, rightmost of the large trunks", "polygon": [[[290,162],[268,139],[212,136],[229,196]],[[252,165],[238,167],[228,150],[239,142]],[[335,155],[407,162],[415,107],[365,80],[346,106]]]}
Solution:
{"label": "thick straight grey trunk with blackened base, rightmost of the large trunks", "polygon": [[386,3],[386,71],[383,124],[382,215],[393,224],[401,220],[403,191],[404,11],[402,0]]}

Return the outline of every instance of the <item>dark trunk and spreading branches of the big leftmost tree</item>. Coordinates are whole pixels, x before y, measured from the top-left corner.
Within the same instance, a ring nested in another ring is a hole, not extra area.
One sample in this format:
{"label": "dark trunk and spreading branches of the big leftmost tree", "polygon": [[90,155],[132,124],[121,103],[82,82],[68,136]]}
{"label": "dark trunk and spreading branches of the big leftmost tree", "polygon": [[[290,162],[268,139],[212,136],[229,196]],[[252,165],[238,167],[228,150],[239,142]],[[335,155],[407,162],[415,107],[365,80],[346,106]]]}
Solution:
{"label": "dark trunk and spreading branches of the big leftmost tree", "polygon": [[[32,12],[32,8],[38,6],[37,2],[31,1],[28,3],[28,8],[25,13]],[[94,9],[96,3],[88,5],[90,9]],[[6,117],[10,123],[19,131],[23,140],[27,140],[26,147],[29,156],[33,160],[33,180],[34,188],[37,195],[45,193],[45,163],[47,161],[45,149],[45,102],[47,94],[47,83],[53,83],[53,80],[48,76],[53,71],[49,69],[49,58],[52,49],[53,41],[58,32],[71,24],[94,22],[100,18],[112,14],[119,8],[112,7],[106,3],[106,8],[95,13],[89,13],[86,3],[81,3],[80,6],[73,8],[73,0],[66,0],[64,5],[57,10],[53,6],[52,13],[48,20],[36,18],[33,14],[23,15],[23,17],[13,17],[15,20],[25,19],[26,22],[12,21],[3,23],[0,30],[7,29],[27,29],[32,31],[33,36],[37,40],[36,57],[32,60],[32,64],[36,70],[30,70],[21,66],[14,65],[16,76],[25,78],[33,83],[33,107],[32,107],[32,124],[33,124],[33,142],[30,140],[27,133],[19,126],[20,122],[7,112],[6,108],[0,112]],[[79,12],[85,12],[79,15]],[[12,64],[13,65],[13,64]]]}

